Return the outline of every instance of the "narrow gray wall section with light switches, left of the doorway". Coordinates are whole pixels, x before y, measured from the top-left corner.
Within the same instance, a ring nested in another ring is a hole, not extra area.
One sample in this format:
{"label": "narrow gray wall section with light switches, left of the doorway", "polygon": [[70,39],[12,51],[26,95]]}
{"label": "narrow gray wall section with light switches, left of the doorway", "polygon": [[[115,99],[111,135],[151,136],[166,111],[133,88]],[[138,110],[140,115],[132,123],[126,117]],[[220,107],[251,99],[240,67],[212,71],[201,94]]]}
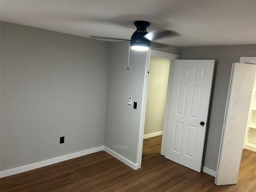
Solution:
{"label": "narrow gray wall section with light switches, left of the doorway", "polygon": [[[130,51],[129,42],[110,44],[108,101],[106,112],[105,146],[137,164],[138,133],[142,110],[146,52]],[[154,50],[160,50],[154,48]],[[180,48],[169,46],[166,52],[179,54]],[[163,51],[163,50],[162,50]],[[146,73],[148,75],[148,73]],[[128,105],[128,98],[138,102],[137,110]]]}

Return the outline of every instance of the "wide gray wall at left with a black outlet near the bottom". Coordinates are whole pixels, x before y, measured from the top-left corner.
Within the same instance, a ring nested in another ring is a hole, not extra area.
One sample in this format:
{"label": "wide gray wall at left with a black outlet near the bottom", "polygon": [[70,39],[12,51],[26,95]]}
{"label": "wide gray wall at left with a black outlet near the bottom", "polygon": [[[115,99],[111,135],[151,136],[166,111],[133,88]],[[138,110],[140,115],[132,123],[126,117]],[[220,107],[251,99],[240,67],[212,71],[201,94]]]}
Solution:
{"label": "wide gray wall at left with a black outlet near the bottom", "polygon": [[1,22],[1,170],[104,145],[109,45]]}

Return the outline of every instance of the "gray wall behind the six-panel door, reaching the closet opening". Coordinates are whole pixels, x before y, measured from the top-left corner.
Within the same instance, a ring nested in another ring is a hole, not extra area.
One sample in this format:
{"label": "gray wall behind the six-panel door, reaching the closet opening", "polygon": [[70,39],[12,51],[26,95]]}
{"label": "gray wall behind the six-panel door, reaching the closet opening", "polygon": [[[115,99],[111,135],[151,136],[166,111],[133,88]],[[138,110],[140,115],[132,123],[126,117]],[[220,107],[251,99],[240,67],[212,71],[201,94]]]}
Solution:
{"label": "gray wall behind the six-panel door, reaching the closet opening", "polygon": [[240,56],[256,56],[256,44],[181,48],[180,59],[216,60],[203,159],[203,166],[212,170],[217,168],[231,67]]}

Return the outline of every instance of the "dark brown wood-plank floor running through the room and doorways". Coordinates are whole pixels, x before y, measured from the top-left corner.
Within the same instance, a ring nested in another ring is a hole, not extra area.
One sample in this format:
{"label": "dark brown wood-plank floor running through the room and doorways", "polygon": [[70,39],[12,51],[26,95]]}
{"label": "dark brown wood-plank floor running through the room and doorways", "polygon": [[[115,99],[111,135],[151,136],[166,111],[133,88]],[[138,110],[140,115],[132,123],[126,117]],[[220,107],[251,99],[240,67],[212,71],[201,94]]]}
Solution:
{"label": "dark brown wood-plank floor running through the room and doorways", "polygon": [[162,136],[144,140],[142,168],[104,151],[1,178],[1,192],[256,192],[256,152],[243,150],[238,184],[216,186],[160,155]]}

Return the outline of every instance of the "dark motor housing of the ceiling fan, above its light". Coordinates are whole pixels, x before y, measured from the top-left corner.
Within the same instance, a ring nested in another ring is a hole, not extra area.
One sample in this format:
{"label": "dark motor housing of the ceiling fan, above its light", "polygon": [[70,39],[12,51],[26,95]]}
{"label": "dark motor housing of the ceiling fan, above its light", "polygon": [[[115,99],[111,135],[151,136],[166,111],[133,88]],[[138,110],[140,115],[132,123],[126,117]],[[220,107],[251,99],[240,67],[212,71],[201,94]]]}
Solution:
{"label": "dark motor housing of the ceiling fan, above its light", "polygon": [[148,32],[146,31],[147,27],[150,26],[150,23],[147,21],[136,21],[134,22],[137,30],[132,34],[131,37],[131,46],[146,46],[150,47],[150,40],[144,38]]}

